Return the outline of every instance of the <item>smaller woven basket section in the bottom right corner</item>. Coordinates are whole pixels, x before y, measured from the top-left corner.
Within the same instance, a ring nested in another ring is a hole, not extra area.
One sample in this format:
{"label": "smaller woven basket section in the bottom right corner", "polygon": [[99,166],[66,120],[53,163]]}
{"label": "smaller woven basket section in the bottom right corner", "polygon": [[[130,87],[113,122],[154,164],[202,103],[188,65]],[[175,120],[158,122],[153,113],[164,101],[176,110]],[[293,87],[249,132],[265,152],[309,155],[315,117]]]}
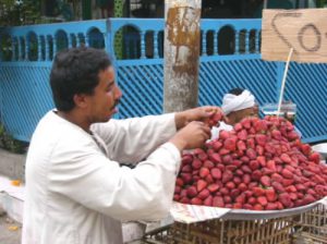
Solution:
{"label": "smaller woven basket section in the bottom right corner", "polygon": [[296,243],[327,244],[327,207],[318,205],[300,215],[296,229]]}

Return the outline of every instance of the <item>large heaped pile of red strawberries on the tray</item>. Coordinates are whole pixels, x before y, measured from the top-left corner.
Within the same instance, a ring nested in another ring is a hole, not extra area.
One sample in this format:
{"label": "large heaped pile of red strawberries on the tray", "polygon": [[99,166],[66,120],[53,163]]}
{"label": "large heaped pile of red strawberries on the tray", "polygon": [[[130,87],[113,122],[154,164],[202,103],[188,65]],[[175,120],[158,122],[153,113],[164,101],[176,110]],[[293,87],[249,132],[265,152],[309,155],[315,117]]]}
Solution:
{"label": "large heaped pile of red strawberries on the tray", "polygon": [[250,210],[304,206],[327,196],[327,167],[287,120],[249,118],[183,155],[175,202]]}

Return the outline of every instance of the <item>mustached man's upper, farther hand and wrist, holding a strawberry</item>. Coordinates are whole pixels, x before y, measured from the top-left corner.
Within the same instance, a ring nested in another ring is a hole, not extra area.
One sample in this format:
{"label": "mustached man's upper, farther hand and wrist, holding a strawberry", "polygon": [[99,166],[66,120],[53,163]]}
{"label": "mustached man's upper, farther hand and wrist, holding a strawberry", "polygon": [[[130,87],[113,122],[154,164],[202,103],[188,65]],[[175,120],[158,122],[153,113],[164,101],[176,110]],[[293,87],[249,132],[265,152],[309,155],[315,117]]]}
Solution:
{"label": "mustached man's upper, farther hand and wrist, holding a strawberry", "polygon": [[198,107],[178,112],[174,117],[177,130],[184,127],[192,121],[206,122],[214,113],[217,112],[221,112],[221,109],[215,106]]}

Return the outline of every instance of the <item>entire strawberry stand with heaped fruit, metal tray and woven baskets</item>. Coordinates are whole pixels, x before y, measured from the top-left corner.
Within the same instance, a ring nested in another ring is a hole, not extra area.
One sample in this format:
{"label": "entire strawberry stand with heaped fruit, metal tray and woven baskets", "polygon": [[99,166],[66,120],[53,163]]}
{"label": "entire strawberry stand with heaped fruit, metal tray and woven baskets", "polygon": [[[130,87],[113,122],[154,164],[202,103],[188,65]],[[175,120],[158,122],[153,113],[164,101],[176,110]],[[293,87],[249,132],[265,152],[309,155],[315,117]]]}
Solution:
{"label": "entire strawberry stand with heaped fruit, metal tray and woven baskets", "polygon": [[145,242],[327,243],[327,166],[283,118],[246,118],[183,155],[171,216]]}

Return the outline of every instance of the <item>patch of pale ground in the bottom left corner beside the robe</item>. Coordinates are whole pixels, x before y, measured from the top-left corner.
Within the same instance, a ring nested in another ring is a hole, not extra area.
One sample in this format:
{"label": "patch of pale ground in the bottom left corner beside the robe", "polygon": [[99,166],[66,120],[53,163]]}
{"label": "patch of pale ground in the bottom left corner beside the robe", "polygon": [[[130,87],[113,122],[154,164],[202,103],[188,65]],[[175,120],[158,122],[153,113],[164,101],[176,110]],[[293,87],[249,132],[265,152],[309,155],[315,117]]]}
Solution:
{"label": "patch of pale ground in the bottom left corner beside the robe", "polygon": [[22,235],[22,224],[10,219],[0,208],[0,243],[20,244]]}

